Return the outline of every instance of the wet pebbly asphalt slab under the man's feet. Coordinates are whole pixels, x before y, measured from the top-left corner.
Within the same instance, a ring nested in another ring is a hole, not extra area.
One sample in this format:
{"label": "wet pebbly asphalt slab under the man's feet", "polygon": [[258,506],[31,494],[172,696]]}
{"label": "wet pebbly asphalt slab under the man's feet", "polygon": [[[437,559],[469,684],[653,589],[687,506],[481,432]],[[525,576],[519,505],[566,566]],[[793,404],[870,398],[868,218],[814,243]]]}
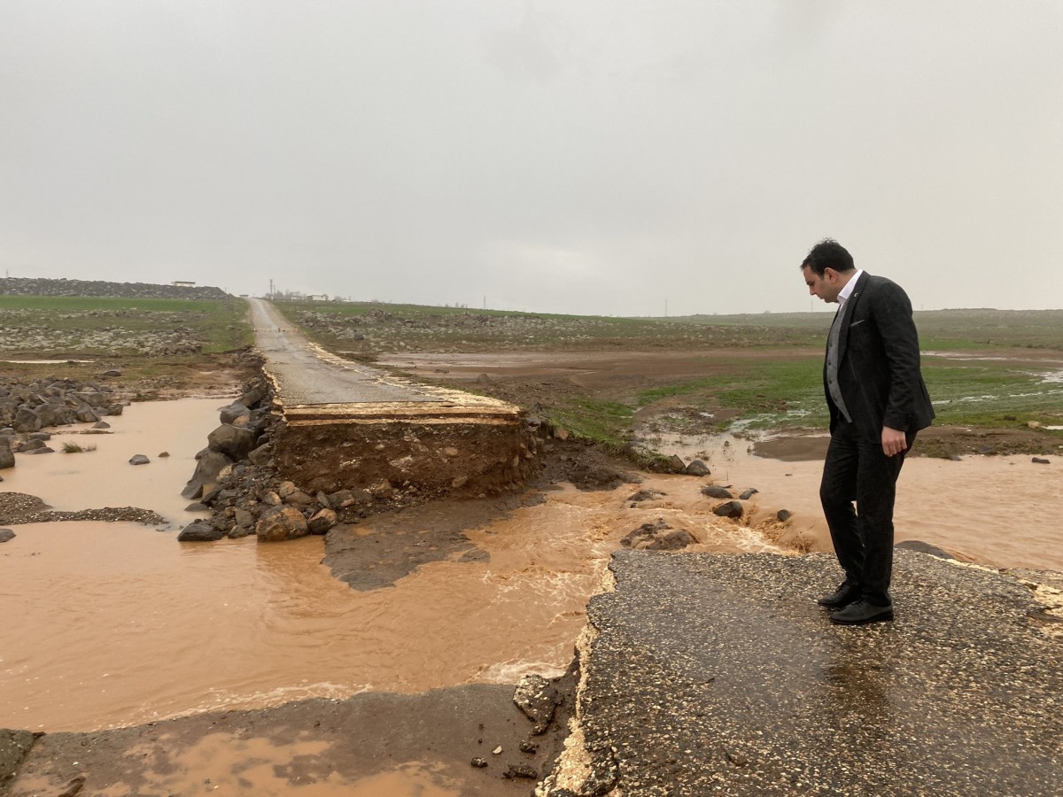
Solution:
{"label": "wet pebbly asphalt slab under the man's feet", "polygon": [[589,606],[579,794],[1063,794],[1063,625],[1024,584],[1058,574],[898,550],[897,618],[846,627],[815,604],[839,580],[827,555],[610,566],[615,591]]}

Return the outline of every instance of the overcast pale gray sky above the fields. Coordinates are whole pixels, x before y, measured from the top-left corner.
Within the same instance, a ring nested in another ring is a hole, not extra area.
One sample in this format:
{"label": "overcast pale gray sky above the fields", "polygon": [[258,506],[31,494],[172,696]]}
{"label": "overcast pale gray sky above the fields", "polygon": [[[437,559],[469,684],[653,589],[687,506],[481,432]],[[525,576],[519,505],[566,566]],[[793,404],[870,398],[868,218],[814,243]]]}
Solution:
{"label": "overcast pale gray sky above the fields", "polygon": [[0,268],[542,312],[1063,308],[1063,2],[0,0]]}

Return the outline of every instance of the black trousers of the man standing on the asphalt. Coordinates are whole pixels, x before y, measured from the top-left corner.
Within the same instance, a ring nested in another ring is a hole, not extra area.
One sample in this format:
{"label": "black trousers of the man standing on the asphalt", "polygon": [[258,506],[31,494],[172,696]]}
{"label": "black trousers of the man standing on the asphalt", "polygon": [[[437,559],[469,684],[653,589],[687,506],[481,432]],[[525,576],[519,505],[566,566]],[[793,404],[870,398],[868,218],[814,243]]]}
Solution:
{"label": "black trousers of the man standing on the asphalt", "polygon": [[[911,448],[915,434],[907,438]],[[879,606],[891,603],[893,504],[904,463],[905,452],[888,457],[880,438],[867,440],[856,424],[841,421],[823,464],[820,501],[838,563],[863,599]]]}

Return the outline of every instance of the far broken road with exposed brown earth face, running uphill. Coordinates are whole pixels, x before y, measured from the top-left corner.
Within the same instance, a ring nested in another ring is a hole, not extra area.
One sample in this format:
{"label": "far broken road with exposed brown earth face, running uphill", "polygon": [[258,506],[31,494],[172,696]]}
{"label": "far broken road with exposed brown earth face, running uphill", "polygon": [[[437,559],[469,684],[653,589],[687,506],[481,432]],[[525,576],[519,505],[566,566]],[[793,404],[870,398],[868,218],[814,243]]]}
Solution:
{"label": "far broken road with exposed brown earth face, running uphill", "polygon": [[479,495],[522,481],[535,437],[511,404],[420,385],[317,346],[250,299],[255,343],[284,422],[274,456],[304,490],[382,485]]}

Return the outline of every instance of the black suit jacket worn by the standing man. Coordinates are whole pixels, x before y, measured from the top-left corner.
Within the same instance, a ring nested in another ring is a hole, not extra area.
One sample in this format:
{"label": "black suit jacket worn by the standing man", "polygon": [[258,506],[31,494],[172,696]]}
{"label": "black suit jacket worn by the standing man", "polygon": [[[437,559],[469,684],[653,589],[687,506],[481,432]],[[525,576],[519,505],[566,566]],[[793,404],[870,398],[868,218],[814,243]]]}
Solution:
{"label": "black suit jacket worn by the standing man", "polygon": [[[866,272],[840,310],[838,384],[862,437],[880,440],[882,427],[916,433],[930,425],[933,407],[919,371],[919,340],[912,303],[896,283]],[[841,411],[827,390],[833,431]]]}

